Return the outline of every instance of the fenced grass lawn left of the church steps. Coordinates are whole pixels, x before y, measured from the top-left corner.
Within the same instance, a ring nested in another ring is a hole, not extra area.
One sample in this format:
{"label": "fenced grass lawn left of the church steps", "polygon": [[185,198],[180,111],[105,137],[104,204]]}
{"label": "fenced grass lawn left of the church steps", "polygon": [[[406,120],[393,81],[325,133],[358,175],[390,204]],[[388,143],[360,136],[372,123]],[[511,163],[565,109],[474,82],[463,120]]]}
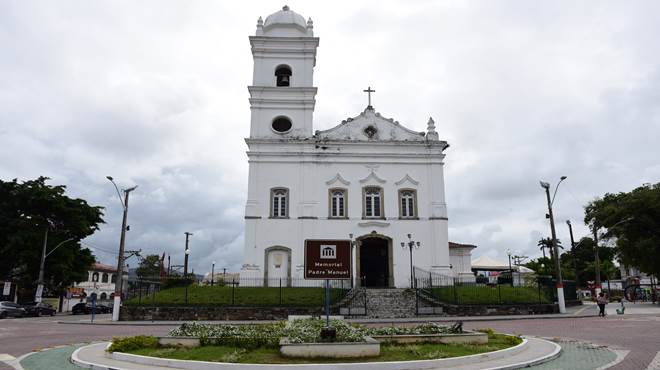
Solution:
{"label": "fenced grass lawn left of the church steps", "polygon": [[[330,289],[330,299],[334,303],[343,294],[342,289]],[[232,299],[233,295],[233,299]],[[237,306],[323,306],[324,288],[300,287],[237,287],[232,292],[231,286],[198,286],[163,289],[155,296],[144,295],[141,299],[133,298],[127,305],[157,306],[168,305],[237,305]]]}

